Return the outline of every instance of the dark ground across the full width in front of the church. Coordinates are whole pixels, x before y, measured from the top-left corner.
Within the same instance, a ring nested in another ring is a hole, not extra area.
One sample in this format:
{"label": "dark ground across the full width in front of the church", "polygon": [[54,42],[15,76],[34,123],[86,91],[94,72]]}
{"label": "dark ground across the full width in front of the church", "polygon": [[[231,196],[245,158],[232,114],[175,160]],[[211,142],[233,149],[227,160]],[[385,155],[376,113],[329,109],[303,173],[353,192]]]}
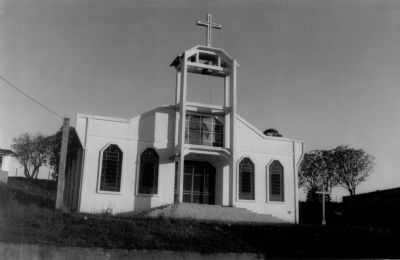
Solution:
{"label": "dark ground across the full width in front of the church", "polygon": [[0,184],[0,240],[60,246],[257,252],[279,257],[399,257],[399,227],[233,224],[65,214],[53,210],[55,184]]}

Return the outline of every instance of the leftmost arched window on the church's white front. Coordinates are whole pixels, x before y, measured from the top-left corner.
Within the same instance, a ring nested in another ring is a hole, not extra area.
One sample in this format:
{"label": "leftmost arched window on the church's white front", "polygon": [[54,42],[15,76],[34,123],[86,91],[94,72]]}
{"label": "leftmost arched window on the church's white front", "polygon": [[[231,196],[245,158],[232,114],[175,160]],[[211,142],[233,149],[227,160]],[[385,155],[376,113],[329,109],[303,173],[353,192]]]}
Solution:
{"label": "leftmost arched window on the church's white front", "polygon": [[102,155],[100,190],[120,191],[122,151],[117,145],[111,144]]}

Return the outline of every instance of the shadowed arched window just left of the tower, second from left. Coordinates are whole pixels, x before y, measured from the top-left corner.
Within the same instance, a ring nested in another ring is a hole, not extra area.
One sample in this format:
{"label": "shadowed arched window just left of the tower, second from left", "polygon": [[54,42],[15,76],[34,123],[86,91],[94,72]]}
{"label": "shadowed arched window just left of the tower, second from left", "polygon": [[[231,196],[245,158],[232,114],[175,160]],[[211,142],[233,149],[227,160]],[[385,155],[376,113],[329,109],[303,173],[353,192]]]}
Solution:
{"label": "shadowed arched window just left of the tower, second from left", "polygon": [[146,149],[140,156],[139,193],[157,193],[158,161],[158,154],[151,148]]}

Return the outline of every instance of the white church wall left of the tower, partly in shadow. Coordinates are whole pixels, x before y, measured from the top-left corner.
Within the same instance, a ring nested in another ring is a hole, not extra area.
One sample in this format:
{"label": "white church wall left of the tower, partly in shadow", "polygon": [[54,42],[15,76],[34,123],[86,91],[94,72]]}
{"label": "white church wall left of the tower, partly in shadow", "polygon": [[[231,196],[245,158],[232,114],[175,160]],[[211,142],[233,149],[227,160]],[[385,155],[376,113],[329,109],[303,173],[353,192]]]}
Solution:
{"label": "white church wall left of the tower, partly in shadow", "polygon": [[[175,164],[173,137],[175,111],[159,107],[131,120],[87,115],[77,116],[77,132],[85,147],[80,211],[113,213],[141,211],[173,202]],[[116,144],[123,152],[121,190],[98,189],[100,151]],[[155,148],[159,157],[158,194],[137,192],[140,154]]]}

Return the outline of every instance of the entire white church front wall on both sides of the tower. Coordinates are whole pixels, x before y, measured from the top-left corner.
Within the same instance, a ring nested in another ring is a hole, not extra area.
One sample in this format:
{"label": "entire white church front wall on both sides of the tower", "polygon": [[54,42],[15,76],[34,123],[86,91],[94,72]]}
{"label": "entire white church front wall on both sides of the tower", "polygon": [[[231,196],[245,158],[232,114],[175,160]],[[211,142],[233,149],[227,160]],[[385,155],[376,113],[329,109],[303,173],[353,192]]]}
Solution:
{"label": "entire white church front wall on both sides of the tower", "polygon": [[[255,200],[242,201],[233,194],[237,207],[257,213],[271,214],[288,222],[295,222],[298,211],[296,167],[302,155],[302,143],[287,138],[264,136],[237,116],[235,163],[249,157],[255,164]],[[142,211],[174,201],[175,110],[159,107],[130,120],[78,115],[76,129],[85,147],[80,211],[101,213],[108,208],[113,213]],[[100,153],[109,144],[117,144],[123,151],[121,191],[98,190]],[[153,147],[160,156],[158,194],[137,193],[140,154]],[[268,164],[279,160],[284,167],[284,202],[270,202],[267,197]],[[214,163],[215,164],[215,163]],[[215,165],[217,170],[216,202],[229,205],[231,176],[229,166]],[[237,173],[235,178],[237,178]],[[236,182],[237,184],[237,182]],[[238,190],[237,188],[235,189]]]}

